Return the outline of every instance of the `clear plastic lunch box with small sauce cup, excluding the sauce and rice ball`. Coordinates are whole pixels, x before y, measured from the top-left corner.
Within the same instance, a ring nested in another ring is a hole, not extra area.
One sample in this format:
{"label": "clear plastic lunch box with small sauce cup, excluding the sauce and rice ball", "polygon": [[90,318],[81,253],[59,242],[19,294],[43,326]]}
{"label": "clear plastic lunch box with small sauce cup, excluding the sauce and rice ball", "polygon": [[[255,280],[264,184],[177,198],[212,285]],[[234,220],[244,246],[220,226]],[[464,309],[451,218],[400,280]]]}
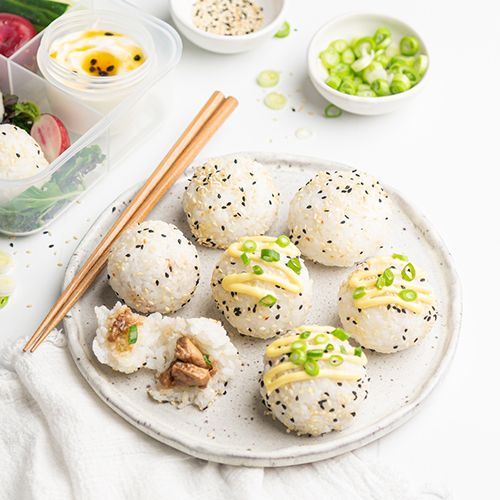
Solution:
{"label": "clear plastic lunch box with small sauce cup, excluding the sauce and rice ball", "polygon": [[[106,16],[109,11],[114,12],[113,26],[117,31],[126,33],[127,28],[137,27],[143,30],[142,34],[134,32],[131,36],[137,38],[149,60],[149,64],[145,62],[130,72],[132,84],[130,80],[124,82],[127,79],[111,80],[115,77],[103,82],[111,87],[105,87],[104,94],[110,90],[108,97],[112,95],[113,100],[103,98],[100,88],[67,85],[71,80],[58,79],[60,72],[46,64],[43,57],[37,60],[45,32],[53,34],[66,21],[74,26],[76,21],[95,19],[96,11],[108,11]],[[33,101],[42,113],[54,114],[71,136],[71,146],[36,176],[0,179],[0,232],[26,235],[46,228],[101,179],[112,164],[118,164],[151,135],[169,113],[169,103],[164,99],[168,94],[165,77],[178,63],[181,52],[179,35],[165,22],[121,0],[96,0],[71,7],[10,58],[0,55],[2,93]],[[137,78],[141,74],[142,78]],[[124,127],[124,123],[128,126]]]}

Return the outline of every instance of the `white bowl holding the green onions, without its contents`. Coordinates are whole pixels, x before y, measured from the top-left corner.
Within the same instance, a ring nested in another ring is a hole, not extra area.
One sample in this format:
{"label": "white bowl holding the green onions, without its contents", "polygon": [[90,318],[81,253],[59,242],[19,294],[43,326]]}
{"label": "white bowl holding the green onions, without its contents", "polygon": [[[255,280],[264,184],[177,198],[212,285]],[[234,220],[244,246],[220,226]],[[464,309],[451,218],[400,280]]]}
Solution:
{"label": "white bowl holding the green onions, without its contents", "polygon": [[429,51],[422,38],[411,26],[393,17],[379,14],[349,14],[336,17],[320,28],[309,44],[307,59],[309,76],[313,85],[325,99],[344,111],[357,115],[390,113],[422,90],[427,81],[429,68],[420,82],[410,90],[384,97],[360,97],[344,94],[325,83],[328,73],[321,63],[319,53],[326,49],[333,40],[343,38],[349,41],[353,38],[369,36],[382,26],[391,30],[393,40],[398,43],[403,36],[414,36],[420,43],[421,53],[429,56]]}

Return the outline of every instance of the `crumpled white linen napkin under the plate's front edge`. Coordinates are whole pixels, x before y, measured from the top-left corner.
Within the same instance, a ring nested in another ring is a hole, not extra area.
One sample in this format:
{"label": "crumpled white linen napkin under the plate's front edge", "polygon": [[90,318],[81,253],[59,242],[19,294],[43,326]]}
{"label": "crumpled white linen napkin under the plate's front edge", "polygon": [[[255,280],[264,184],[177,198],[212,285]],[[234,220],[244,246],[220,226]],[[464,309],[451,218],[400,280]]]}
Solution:
{"label": "crumpled white linen napkin under the plate's front edge", "polygon": [[276,469],[192,458],[108,408],[80,376],[63,334],[53,332],[34,354],[21,352],[26,340],[0,349],[1,499],[450,498],[415,491],[359,452]]}

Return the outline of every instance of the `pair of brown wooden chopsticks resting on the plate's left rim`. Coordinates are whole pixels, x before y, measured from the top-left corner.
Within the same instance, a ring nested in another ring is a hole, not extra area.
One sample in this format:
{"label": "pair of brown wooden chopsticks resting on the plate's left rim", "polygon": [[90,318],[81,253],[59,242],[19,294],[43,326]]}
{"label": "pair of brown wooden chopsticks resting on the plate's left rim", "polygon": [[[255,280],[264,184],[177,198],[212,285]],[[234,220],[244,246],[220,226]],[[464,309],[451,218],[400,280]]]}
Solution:
{"label": "pair of brown wooden chopsticks resting on the plate's left rim", "polygon": [[113,243],[127,227],[142,222],[148,216],[237,105],[238,101],[234,97],[224,97],[219,91],[212,94],[71,283],[62,292],[36,332],[24,346],[24,352],[28,350],[34,352],[58,325],[104,268]]}

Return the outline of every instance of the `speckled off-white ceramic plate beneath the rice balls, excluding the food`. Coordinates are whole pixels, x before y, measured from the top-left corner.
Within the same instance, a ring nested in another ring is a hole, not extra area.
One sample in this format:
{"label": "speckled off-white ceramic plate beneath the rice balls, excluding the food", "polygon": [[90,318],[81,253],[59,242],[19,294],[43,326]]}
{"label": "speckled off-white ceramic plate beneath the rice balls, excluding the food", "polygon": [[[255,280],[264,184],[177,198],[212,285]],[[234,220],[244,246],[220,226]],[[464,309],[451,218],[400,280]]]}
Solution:
{"label": "speckled off-white ceramic plate beneath the rice balls, excluding the food", "polygon": [[[312,158],[268,153],[246,153],[269,167],[282,195],[279,221],[270,234],[286,232],[288,203],[299,186],[319,169],[345,166]],[[181,178],[151,214],[190,231],[182,211],[186,184]],[[314,462],[363,446],[408,420],[429,395],[448,366],[458,338],[461,317],[460,285],[449,253],[429,223],[404,198],[386,186],[396,206],[396,224],[388,235],[388,247],[409,254],[433,276],[439,298],[439,320],[421,344],[401,353],[367,353],[371,376],[370,395],[352,427],[316,438],[297,437],[264,415],[258,394],[264,341],[241,337],[226,325],[241,353],[242,367],[230,381],[227,394],[205,411],[178,410],[151,400],[146,387],[153,373],[133,375],[114,372],[92,353],[96,320],[94,307],[115,303],[103,273],[73,308],[64,326],[73,358],[82,375],[114,411],[149,436],[199,458],[232,465],[284,466]],[[120,196],[99,217],[85,236],[66,271],[65,285],[96,247],[102,235],[126,206],[134,190]],[[222,319],[210,295],[210,276],[220,250],[198,247],[202,276],[193,300],[178,312],[184,317]],[[336,294],[349,269],[327,268],[308,262],[314,280],[315,300],[309,323],[338,324]]]}

